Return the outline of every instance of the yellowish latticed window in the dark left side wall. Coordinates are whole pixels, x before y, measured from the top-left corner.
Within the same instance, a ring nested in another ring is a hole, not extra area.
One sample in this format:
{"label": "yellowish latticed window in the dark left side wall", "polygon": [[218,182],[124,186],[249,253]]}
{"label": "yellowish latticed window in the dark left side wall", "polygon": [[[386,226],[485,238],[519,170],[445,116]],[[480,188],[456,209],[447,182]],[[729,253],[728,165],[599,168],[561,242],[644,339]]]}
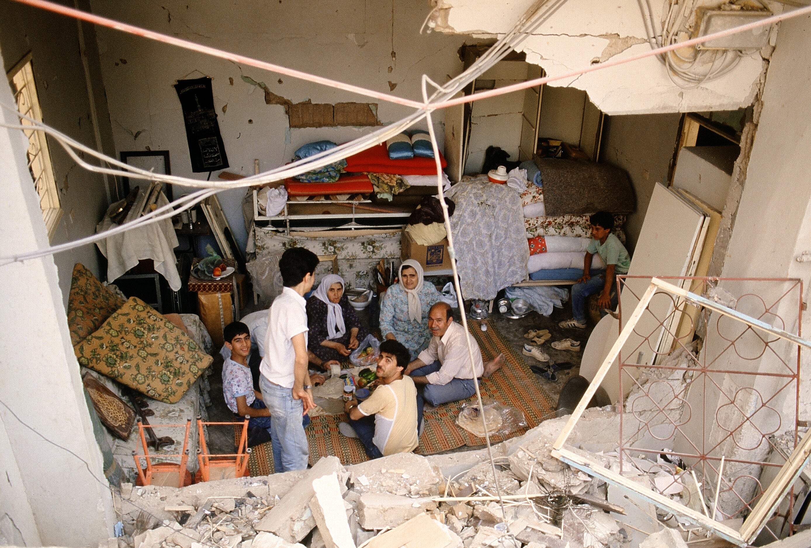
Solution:
{"label": "yellowish latticed window in the dark left side wall", "polygon": [[[19,113],[42,122],[42,109],[40,99],[36,92],[34,70],[31,53],[29,52],[6,73],[14,92],[14,100]],[[32,126],[32,122],[19,118],[22,126]],[[59,199],[59,188],[54,175],[54,164],[51,161],[48,148],[48,139],[45,133],[36,130],[23,130],[28,139],[26,151],[28,172],[34,183],[34,190],[39,197],[42,220],[48,232],[48,240],[54,238],[54,233],[62,219],[62,204]]]}

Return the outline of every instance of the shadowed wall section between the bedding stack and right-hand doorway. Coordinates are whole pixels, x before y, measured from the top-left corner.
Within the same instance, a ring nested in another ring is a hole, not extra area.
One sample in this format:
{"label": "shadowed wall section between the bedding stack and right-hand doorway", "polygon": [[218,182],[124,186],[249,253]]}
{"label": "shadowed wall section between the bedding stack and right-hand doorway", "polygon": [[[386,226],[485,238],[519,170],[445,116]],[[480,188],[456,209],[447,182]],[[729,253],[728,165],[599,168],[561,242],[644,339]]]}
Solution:
{"label": "shadowed wall section between the bedding stack and right-hand doorway", "polygon": [[637,195],[637,211],[624,225],[626,246],[633,253],[650,196],[657,182],[667,184],[667,171],[679,138],[679,114],[608,116],[603,126],[600,161],[628,172]]}

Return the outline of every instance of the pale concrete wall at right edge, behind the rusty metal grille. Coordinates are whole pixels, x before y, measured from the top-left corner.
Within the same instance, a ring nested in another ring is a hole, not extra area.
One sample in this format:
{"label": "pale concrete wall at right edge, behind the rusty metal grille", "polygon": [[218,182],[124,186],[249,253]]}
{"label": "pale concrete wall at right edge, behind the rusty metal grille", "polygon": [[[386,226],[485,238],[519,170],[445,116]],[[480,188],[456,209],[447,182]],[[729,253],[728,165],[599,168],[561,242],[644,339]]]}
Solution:
{"label": "pale concrete wall at right edge, behind the rusty metal grille", "polygon": [[[807,117],[796,113],[807,112],[811,105],[811,48],[809,48],[811,19],[803,17],[781,25],[775,54],[771,58],[766,85],[762,95],[762,110],[757,119],[757,139],[753,139],[745,184],[740,188],[740,205],[736,209],[734,229],[721,276],[749,277],[799,277],[805,282],[807,302],[809,263],[800,263],[796,257],[808,250],[811,237],[809,224],[809,204],[811,204],[811,174],[805,169],[811,152],[811,131]],[[733,178],[732,185],[735,180]],[[730,189],[732,192],[732,188]],[[753,291],[753,284],[731,286],[733,294]],[[762,292],[758,292],[762,293]],[[760,295],[769,302],[771,295]],[[795,303],[796,304],[796,303]],[[784,318],[792,318],[787,310],[775,310]],[[796,319],[796,308],[792,310]],[[804,313],[804,334],[809,332],[807,313]],[[773,316],[767,321],[780,324]],[[785,323],[785,328],[797,332],[795,322]],[[755,344],[756,341],[753,341]],[[718,330],[710,324],[707,329],[706,345],[720,348],[726,343]],[[741,349],[747,354],[750,349]],[[796,349],[792,345],[778,348],[787,362],[796,362]],[[803,364],[808,364],[804,353]],[[762,357],[743,362],[748,370],[775,370],[779,367],[774,353],[766,352]],[[805,375],[803,375],[805,377]],[[764,380],[762,383],[766,383]],[[737,379],[727,379],[727,383],[744,385]],[[774,384],[774,382],[771,382]],[[761,392],[769,386],[756,385]],[[800,387],[800,419],[809,418],[811,391],[808,381]],[[782,398],[770,402],[776,409],[784,426],[790,426],[793,419],[793,398]],[[768,429],[766,430],[768,431]],[[745,446],[745,444],[744,444]],[[749,445],[751,447],[751,445]],[[731,452],[737,458],[749,460],[744,450]],[[727,455],[727,458],[732,455]]]}

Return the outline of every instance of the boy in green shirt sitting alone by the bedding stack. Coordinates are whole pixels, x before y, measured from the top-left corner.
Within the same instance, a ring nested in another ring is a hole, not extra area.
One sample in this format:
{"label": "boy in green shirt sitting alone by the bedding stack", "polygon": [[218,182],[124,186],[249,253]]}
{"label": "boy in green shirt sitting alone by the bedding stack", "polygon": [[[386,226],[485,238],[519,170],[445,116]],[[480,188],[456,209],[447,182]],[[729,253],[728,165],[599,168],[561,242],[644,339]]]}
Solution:
{"label": "boy in green shirt sitting alone by the bedding stack", "polygon": [[[631,265],[628,250],[622,245],[619,238],[611,233],[614,228],[614,216],[608,212],[596,212],[590,216],[591,242],[586,249],[586,258],[583,259],[583,276],[572,286],[572,314],[573,319],[560,322],[561,328],[586,328],[586,297],[600,293],[597,306],[600,310],[616,308],[616,302],[611,299],[611,285],[617,274],[627,274]],[[597,276],[590,276],[591,258],[599,255],[606,265],[606,271]],[[616,299],[614,299],[616,300]]]}

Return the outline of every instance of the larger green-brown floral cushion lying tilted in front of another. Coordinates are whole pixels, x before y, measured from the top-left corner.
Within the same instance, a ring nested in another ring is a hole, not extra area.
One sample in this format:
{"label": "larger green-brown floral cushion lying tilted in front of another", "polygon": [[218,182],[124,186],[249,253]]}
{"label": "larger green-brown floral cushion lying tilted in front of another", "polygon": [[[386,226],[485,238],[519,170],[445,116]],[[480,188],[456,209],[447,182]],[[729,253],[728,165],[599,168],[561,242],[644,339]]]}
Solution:
{"label": "larger green-brown floral cushion lying tilted in front of another", "polygon": [[79,364],[174,404],[213,358],[174,323],[131,297],[74,347]]}

